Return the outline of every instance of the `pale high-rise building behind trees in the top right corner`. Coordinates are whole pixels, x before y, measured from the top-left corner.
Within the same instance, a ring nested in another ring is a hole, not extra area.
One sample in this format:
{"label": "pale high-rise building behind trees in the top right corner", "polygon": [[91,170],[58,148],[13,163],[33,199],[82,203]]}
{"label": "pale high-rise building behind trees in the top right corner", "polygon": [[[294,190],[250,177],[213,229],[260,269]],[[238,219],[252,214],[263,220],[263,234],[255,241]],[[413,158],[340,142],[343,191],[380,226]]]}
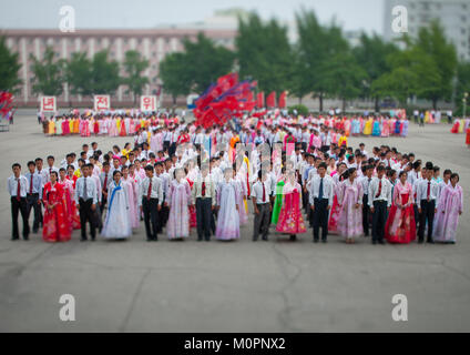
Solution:
{"label": "pale high-rise building behind trees in the top right corner", "polygon": [[408,33],[418,36],[419,29],[439,19],[446,36],[456,45],[459,60],[470,60],[470,1],[469,0],[386,0],[384,38],[392,40],[401,36],[395,33],[392,9],[403,6],[408,13]]}

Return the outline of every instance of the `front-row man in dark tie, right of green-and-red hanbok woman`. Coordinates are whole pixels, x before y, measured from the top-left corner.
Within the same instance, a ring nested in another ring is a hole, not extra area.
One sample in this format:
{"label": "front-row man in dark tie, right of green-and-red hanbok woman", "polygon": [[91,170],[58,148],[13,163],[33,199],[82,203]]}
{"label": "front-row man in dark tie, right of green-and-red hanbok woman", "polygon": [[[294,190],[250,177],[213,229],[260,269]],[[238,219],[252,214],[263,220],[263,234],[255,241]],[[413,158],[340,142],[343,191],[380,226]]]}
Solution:
{"label": "front-row man in dark tie, right of green-and-red hanbok woman", "polygon": [[317,168],[318,174],[314,175],[310,185],[309,202],[314,220],[314,243],[317,243],[319,240],[320,227],[321,242],[326,243],[328,235],[328,214],[335,192],[333,179],[326,175],[326,163],[319,163]]}

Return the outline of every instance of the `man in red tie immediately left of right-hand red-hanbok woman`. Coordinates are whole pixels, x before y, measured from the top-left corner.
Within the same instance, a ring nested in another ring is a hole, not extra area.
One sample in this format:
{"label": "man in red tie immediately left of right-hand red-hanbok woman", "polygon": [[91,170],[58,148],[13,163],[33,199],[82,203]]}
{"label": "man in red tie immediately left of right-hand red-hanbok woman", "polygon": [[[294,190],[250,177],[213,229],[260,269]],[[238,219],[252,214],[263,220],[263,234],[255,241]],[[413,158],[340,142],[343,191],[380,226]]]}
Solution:
{"label": "man in red tie immediately left of right-hand red-hanbok woman", "polygon": [[385,244],[385,223],[391,205],[391,184],[385,176],[384,165],[377,166],[377,176],[370,181],[368,204],[372,213],[372,244]]}

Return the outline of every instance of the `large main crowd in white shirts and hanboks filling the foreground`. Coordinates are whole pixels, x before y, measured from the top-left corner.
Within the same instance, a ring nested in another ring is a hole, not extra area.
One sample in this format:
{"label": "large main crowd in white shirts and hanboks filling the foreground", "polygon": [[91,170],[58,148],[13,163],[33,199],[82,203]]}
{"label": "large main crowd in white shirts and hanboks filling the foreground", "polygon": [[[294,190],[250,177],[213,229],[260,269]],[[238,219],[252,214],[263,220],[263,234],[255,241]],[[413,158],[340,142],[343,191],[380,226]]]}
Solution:
{"label": "large main crowd in white shirts and hanboks filling the foreground", "polygon": [[141,221],[147,241],[163,233],[187,239],[192,229],[198,241],[237,240],[249,213],[253,241],[267,241],[273,230],[295,241],[311,227],[314,242],[326,243],[329,234],[348,244],[362,235],[374,244],[456,242],[463,210],[457,172],[441,176],[432,162],[388,145],[354,149],[349,120],[329,126],[315,118],[280,119],[207,129],[184,120],[136,125],[133,144],[123,149],[83,144],[59,165],[52,155],[45,164],[29,161],[25,174],[16,163],[8,180],[12,240],[19,214],[29,239],[33,211],[32,232],[42,227],[48,242],[68,241],[73,230],[81,241],[89,233],[94,241],[96,230],[104,239],[129,239]]}

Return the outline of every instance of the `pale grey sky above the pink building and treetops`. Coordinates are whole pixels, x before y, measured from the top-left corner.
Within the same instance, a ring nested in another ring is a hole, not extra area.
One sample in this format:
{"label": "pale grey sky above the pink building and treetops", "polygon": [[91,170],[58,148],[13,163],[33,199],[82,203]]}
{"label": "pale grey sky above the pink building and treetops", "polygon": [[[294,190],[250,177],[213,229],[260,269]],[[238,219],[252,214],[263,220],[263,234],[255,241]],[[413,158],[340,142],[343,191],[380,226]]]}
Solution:
{"label": "pale grey sky above the pink building and treetops", "polygon": [[[8,3],[8,4],[7,4]],[[304,6],[314,9],[321,22],[336,17],[345,30],[381,33],[384,0],[0,0],[0,28],[57,28],[62,6],[75,9],[81,28],[152,28],[162,23],[202,21],[214,10],[239,7],[256,10],[263,18],[293,20]],[[8,10],[6,10],[8,9]]]}

